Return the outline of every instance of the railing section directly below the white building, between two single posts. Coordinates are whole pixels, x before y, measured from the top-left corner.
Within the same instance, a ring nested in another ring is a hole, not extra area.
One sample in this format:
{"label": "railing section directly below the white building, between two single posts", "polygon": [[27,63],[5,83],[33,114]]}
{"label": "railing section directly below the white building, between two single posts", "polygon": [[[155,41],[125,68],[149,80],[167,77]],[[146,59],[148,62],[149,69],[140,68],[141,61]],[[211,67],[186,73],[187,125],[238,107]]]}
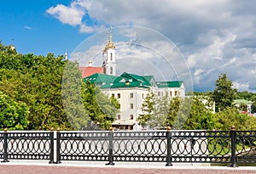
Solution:
{"label": "railing section directly below the white building, between two single posts", "polygon": [[113,134],[114,161],[166,161],[166,131],[111,132],[111,134]]}

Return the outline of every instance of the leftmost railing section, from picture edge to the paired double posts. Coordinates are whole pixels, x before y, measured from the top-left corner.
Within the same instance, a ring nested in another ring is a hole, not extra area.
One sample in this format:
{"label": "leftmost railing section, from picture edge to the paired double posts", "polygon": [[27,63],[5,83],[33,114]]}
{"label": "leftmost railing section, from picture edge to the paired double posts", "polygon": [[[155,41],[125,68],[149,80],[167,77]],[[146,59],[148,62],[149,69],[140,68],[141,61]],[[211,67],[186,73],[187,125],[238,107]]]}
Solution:
{"label": "leftmost railing section, from picture edge to the paired double posts", "polygon": [[0,134],[3,162],[9,160],[49,160],[54,163],[54,132],[7,132]]}

